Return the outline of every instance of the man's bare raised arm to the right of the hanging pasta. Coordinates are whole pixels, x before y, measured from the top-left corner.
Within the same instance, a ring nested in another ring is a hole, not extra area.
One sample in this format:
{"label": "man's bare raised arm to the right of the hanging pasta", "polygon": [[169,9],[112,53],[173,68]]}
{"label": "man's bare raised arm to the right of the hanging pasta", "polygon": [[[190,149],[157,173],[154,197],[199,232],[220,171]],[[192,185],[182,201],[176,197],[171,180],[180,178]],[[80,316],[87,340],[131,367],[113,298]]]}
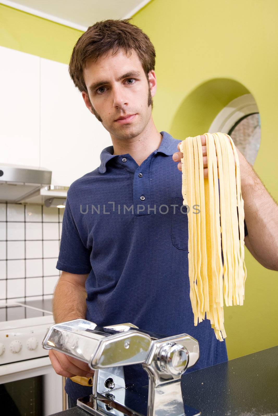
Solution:
{"label": "man's bare raised arm to the right of the hanging pasta", "polygon": [[278,270],[278,206],[241,154],[240,177],[248,229],[246,247],[265,267]]}

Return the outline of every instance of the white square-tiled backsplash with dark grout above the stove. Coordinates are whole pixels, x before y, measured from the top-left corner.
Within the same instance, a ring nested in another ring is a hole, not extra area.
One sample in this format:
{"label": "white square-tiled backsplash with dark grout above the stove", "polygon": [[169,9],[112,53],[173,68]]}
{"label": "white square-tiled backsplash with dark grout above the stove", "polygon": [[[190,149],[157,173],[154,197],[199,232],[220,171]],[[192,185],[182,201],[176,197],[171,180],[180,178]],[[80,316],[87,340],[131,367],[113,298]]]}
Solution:
{"label": "white square-tiled backsplash with dark grout above the stove", "polygon": [[64,208],[0,203],[0,303],[51,299]]}

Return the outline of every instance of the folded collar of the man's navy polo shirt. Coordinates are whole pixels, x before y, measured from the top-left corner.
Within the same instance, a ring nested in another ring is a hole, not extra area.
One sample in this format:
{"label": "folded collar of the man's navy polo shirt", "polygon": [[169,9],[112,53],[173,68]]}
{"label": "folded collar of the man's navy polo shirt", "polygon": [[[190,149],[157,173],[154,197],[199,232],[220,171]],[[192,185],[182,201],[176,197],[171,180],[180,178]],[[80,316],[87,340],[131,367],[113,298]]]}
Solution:
{"label": "folded collar of the man's navy polo shirt", "polygon": [[[160,143],[159,148],[157,149],[157,153],[160,152],[160,153],[165,154],[166,156],[172,156],[173,153],[178,151],[177,140],[173,139],[173,137],[166,131],[160,131],[160,134],[162,134],[162,141]],[[98,171],[100,173],[106,172],[106,163],[110,159],[116,156],[123,156],[123,155],[113,155],[113,153],[114,153],[113,146],[105,147],[105,149],[103,149],[103,151],[101,152],[100,154],[101,163],[98,168]]]}

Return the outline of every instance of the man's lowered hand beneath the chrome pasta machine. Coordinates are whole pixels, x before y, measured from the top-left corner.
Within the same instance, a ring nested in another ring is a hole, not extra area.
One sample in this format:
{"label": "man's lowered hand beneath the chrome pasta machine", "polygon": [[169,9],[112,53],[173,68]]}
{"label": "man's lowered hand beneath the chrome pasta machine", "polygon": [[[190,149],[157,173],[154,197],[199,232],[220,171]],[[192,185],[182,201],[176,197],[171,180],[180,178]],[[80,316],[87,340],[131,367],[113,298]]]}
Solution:
{"label": "man's lowered hand beneath the chrome pasta machine", "polygon": [[48,355],[55,372],[59,376],[92,377],[95,372],[85,362],[63,354],[63,352],[55,351],[55,349],[50,349]]}

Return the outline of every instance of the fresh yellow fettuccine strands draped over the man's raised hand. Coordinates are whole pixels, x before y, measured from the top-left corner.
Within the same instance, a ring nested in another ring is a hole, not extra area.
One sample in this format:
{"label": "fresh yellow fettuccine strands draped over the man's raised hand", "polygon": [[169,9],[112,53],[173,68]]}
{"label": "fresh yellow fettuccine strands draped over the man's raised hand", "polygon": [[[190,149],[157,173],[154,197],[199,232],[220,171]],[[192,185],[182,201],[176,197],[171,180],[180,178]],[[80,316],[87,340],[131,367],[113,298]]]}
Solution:
{"label": "fresh yellow fettuccine strands draped over the man's raised hand", "polygon": [[[208,178],[200,136],[187,137],[180,145],[183,204],[189,207],[190,301],[194,325],[206,314],[216,338],[223,341],[223,295],[226,306],[243,305],[244,300],[244,210],[233,140],[223,133],[205,133],[205,138]],[[200,213],[193,212],[194,205]]]}

